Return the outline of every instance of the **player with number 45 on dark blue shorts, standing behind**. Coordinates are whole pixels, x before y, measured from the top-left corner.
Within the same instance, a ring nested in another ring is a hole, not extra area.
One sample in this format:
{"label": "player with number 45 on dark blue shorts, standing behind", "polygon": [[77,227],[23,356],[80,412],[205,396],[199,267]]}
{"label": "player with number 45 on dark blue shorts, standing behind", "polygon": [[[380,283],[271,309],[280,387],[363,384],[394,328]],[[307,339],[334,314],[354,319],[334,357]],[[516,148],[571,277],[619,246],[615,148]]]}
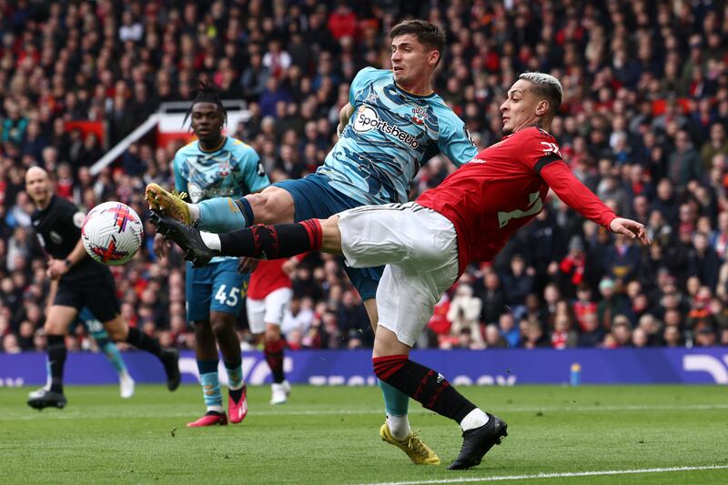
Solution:
{"label": "player with number 45 on dark blue shorts, standing behind", "polygon": [[[223,135],[227,112],[215,86],[200,85],[187,117],[197,140],[175,155],[177,191],[187,192],[197,203],[213,197],[242,197],[268,187],[270,181],[256,151]],[[155,251],[162,258],[167,254],[161,237],[155,237]],[[205,415],[187,426],[227,424],[217,376],[217,347],[227,371],[227,412],[230,422],[239,423],[248,413],[248,400],[235,322],[243,308],[248,275],[238,272],[237,258],[216,258],[207,268],[187,265],[185,278],[187,321],[195,328],[197,369],[207,406]]]}

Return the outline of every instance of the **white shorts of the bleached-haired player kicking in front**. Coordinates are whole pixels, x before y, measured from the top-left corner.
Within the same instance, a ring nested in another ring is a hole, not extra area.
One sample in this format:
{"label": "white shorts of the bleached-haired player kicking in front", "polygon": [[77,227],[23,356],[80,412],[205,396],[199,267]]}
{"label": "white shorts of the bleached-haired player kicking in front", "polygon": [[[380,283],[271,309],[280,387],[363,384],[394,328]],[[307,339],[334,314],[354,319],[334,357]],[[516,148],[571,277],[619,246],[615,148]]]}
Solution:
{"label": "white shorts of the bleached-haired player kicking in front", "polygon": [[455,227],[414,202],[356,207],[339,217],[347,264],[387,265],[377,288],[379,325],[413,346],[442,293],[458,278]]}

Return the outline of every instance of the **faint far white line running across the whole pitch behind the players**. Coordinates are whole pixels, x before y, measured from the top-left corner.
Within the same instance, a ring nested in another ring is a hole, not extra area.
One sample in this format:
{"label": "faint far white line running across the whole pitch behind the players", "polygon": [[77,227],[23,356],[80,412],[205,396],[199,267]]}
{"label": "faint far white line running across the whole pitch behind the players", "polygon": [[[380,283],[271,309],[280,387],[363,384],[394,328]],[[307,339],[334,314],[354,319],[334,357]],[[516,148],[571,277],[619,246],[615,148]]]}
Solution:
{"label": "faint far white line running across the whole pitch behind the players", "polygon": [[[615,412],[615,411],[676,411],[676,410],[711,410],[711,409],[728,409],[728,404],[682,404],[682,405],[665,405],[665,406],[650,406],[650,405],[626,405],[626,406],[506,406],[499,408],[502,409],[503,413],[527,413],[527,412],[545,412],[545,413],[559,413],[559,412]],[[129,413],[124,411],[129,410]],[[17,419],[38,419],[39,416],[53,417],[53,419],[109,419],[109,418],[123,418],[125,416],[133,418],[190,418],[191,415],[188,412],[173,411],[165,413],[157,412],[145,412],[137,411],[136,409],[119,409],[115,408],[108,412],[96,411],[93,414],[87,412],[76,412],[72,410],[58,411],[56,409],[49,409],[45,413],[41,414],[38,412],[30,413],[14,413],[5,414],[0,416],[0,421],[4,420],[17,420]],[[258,411],[251,411],[250,415],[253,416],[350,416],[350,415],[378,415],[383,414],[383,409],[275,409],[266,410],[261,409]],[[410,409],[410,414],[433,414],[432,411],[427,409],[415,408]]]}

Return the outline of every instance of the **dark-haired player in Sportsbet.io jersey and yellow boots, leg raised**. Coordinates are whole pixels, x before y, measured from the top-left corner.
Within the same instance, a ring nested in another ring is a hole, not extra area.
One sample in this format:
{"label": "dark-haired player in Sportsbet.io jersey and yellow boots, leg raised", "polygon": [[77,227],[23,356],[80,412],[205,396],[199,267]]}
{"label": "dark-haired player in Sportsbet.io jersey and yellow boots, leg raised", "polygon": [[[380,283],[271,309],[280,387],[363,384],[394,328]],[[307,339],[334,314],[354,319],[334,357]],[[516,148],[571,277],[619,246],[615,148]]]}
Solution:
{"label": "dark-haired player in Sportsbet.io jersey and yellow boots, leg raised", "polygon": [[[444,154],[459,166],[477,155],[465,124],[432,90],[445,47],[445,32],[423,20],[392,27],[393,70],[366,67],[351,83],[339,114],[339,141],[315,174],[286,180],[260,194],[187,204],[157,184],[147,186],[151,207],[184,224],[225,232],[255,223],[327,218],[352,207],[406,202],[412,180],[431,157]],[[344,268],[364,302],[376,332],[375,296],[383,268]],[[409,398],[379,382],[387,413],[382,440],[414,463],[440,458],[410,429]]]}

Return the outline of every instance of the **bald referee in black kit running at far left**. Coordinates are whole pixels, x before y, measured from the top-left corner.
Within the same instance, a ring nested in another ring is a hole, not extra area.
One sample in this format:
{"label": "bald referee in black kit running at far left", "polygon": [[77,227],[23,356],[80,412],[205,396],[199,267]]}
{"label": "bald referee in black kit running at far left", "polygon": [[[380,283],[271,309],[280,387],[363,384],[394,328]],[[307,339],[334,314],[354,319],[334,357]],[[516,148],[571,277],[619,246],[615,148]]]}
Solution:
{"label": "bald referee in black kit running at far left", "polygon": [[35,409],[66,406],[63,393],[66,333],[85,307],[104,322],[106,332],[114,341],[126,342],[154,354],[164,365],[167,388],[177,389],[179,353],[176,349],[162,349],[156,338],[150,338],[137,328],[129,328],[121,317],[111,271],[86,254],[81,240],[84,213],[65,198],[53,194],[51,181],[43,168],[28,168],[25,191],[35,204],[31,216],[33,227],[50,256],[47,275],[57,281],[56,293],[45,315],[50,385],[31,392],[28,405]]}

